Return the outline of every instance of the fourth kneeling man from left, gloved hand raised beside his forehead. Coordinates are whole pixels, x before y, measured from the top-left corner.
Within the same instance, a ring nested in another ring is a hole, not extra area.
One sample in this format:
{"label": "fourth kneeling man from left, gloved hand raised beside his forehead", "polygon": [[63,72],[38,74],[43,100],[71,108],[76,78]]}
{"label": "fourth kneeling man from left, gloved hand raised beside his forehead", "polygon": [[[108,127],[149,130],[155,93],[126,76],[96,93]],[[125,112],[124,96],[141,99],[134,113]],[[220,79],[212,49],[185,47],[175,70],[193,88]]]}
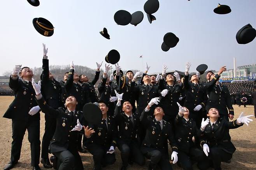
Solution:
{"label": "fourth kneeling man from left, gloved hand raised beside his forehead", "polygon": [[172,147],[172,163],[178,161],[178,147],[174,139],[172,126],[170,123],[163,120],[164,112],[159,106],[154,109],[154,116],[147,114],[151,106],[158,104],[158,102],[159,97],[151,99],[140,116],[140,121],[147,128],[141,151],[146,158],[150,159],[149,170],[155,169],[157,165],[159,165],[162,170],[172,170],[168,156],[167,141],[169,141]]}

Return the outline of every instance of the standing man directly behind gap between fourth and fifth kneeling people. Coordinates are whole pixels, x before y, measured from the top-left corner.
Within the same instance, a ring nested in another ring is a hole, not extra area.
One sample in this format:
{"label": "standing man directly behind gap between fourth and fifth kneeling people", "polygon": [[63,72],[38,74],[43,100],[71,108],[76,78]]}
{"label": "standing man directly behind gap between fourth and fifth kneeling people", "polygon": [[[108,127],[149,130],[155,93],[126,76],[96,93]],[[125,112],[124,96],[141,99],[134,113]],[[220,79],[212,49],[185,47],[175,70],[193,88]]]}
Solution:
{"label": "standing man directly behind gap between fourth and fifth kneeling people", "polygon": [[[165,116],[163,119],[169,123],[174,128],[174,120],[179,111],[177,107],[177,102],[181,97],[183,84],[181,83],[181,79],[179,73],[175,72],[173,75],[171,73],[166,73],[166,65],[163,66],[163,72],[160,78],[160,82],[158,83],[161,90],[162,98],[161,98],[161,106],[164,110]],[[163,83],[164,77],[165,83]],[[176,80],[175,80],[176,79]]]}

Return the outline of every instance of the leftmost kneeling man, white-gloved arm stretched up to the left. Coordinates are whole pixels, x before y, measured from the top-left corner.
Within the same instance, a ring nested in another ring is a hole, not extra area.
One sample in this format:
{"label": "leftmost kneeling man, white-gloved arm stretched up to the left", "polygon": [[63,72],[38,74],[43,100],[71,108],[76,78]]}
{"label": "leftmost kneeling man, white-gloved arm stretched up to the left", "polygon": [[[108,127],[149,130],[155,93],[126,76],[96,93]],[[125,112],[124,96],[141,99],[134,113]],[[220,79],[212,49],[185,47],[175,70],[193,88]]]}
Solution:
{"label": "leftmost kneeling man, white-gloved arm stretched up to the left", "polygon": [[[84,115],[76,108],[78,102],[72,95],[65,102],[67,109],[50,107],[41,94],[41,83],[32,82],[37,103],[45,114],[51,114],[56,119],[56,130],[50,144],[51,153],[58,158],[58,170],[83,170],[82,160],[77,151],[77,137],[84,125]],[[81,122],[81,123],[80,123]],[[53,159],[52,159],[53,160]],[[55,162],[53,164],[56,164]],[[55,167],[55,165],[54,165]]]}

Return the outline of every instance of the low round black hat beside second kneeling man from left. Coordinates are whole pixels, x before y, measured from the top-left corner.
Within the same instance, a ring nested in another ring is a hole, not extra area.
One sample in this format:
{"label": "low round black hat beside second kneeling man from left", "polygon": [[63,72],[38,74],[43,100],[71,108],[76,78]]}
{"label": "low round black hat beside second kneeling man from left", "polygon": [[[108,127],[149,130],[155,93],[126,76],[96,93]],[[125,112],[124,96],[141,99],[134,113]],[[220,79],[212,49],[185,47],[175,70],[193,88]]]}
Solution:
{"label": "low round black hat beside second kneeling man from left", "polygon": [[98,125],[102,121],[102,111],[93,103],[87,103],[84,105],[83,114],[88,124]]}

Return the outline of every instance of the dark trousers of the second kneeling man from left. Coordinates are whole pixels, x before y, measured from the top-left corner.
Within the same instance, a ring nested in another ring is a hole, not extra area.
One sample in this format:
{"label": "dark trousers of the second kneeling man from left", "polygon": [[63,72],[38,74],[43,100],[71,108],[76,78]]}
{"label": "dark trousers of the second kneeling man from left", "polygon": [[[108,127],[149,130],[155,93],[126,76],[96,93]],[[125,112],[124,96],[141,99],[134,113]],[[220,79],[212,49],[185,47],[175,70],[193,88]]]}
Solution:
{"label": "dark trousers of the second kneeling man from left", "polygon": [[93,155],[95,170],[100,170],[101,166],[112,165],[116,161],[115,153],[107,153],[109,147],[98,144],[88,144],[87,149]]}

